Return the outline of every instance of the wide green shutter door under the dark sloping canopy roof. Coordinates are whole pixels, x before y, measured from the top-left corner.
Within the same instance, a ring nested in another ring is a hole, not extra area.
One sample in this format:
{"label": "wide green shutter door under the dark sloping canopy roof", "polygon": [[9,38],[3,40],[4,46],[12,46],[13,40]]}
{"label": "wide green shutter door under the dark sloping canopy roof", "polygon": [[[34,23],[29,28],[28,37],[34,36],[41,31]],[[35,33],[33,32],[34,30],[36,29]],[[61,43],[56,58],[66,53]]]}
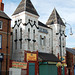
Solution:
{"label": "wide green shutter door under the dark sloping canopy roof", "polygon": [[57,75],[56,65],[39,65],[39,75]]}

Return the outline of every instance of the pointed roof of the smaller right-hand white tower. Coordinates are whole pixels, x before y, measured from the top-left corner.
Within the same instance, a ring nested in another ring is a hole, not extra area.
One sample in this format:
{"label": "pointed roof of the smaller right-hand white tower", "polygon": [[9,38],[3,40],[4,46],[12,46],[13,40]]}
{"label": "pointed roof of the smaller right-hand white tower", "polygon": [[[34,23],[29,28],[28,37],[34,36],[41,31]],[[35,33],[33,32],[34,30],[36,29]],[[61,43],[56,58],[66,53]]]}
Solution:
{"label": "pointed roof of the smaller right-hand white tower", "polygon": [[54,8],[52,11],[52,14],[50,15],[48,21],[46,22],[47,25],[52,25],[52,24],[61,24],[64,25],[60,15],[58,14],[57,10]]}

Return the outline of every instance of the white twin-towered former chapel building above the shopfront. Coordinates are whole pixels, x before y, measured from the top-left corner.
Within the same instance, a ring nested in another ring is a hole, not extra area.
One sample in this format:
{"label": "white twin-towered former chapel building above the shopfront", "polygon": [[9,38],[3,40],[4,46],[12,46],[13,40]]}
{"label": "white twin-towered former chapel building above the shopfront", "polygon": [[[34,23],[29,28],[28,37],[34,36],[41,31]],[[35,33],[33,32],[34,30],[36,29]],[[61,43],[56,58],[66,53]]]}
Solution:
{"label": "white twin-towered former chapel building above the shopfront", "polygon": [[[22,0],[12,15],[12,59],[24,61],[24,50],[65,56],[65,24],[54,8],[46,24],[38,20],[39,14],[30,0]],[[58,33],[58,35],[57,35]]]}

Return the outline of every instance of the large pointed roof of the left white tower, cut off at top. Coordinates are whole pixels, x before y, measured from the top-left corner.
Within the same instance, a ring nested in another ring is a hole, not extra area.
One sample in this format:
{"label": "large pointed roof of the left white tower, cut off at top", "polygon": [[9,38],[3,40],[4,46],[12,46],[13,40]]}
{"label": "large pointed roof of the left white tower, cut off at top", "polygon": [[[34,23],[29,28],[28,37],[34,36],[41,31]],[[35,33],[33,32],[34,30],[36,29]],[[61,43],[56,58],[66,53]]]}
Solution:
{"label": "large pointed roof of the left white tower, cut off at top", "polygon": [[18,5],[18,7],[16,8],[15,12],[13,13],[13,15],[16,15],[18,13],[21,13],[23,11],[27,11],[29,13],[32,13],[34,15],[38,15],[36,9],[34,8],[33,4],[31,3],[30,0],[22,0],[20,2],[20,4]]}

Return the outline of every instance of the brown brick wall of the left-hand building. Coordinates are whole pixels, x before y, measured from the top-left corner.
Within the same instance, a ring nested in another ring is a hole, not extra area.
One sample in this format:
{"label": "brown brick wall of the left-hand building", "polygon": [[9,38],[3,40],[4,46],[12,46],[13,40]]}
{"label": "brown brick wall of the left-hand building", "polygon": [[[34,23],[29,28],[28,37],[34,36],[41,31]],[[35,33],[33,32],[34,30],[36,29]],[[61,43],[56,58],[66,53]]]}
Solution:
{"label": "brown brick wall of the left-hand building", "polygon": [[8,27],[8,69],[9,69],[9,59],[10,59],[10,24],[11,20],[4,18],[0,18],[0,21],[3,22],[2,29],[0,30],[0,35],[2,35],[2,49],[0,49],[0,53],[4,54],[4,59],[2,61],[2,71],[6,71],[6,51],[7,51],[7,27]]}

